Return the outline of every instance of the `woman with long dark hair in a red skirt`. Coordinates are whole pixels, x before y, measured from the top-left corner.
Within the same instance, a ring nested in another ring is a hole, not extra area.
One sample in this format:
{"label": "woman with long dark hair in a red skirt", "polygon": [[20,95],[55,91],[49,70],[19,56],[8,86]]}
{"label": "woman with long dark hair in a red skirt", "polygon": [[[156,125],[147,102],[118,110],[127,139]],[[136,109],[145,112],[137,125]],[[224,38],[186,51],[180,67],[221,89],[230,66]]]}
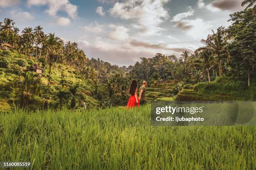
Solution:
{"label": "woman with long dark hair in a red skirt", "polygon": [[140,101],[138,99],[138,83],[136,80],[132,81],[129,93],[131,97],[128,100],[126,108],[140,107]]}

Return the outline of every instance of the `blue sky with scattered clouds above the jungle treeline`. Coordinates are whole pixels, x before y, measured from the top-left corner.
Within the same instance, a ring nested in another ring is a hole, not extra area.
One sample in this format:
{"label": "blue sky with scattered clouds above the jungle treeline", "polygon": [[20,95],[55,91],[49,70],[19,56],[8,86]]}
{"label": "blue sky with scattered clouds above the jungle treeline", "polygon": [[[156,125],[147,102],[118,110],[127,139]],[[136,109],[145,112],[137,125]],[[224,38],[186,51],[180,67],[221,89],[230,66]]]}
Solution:
{"label": "blue sky with scattered clouds above the jungle treeline", "polygon": [[43,27],[77,42],[89,58],[134,65],[140,57],[194,52],[212,30],[228,27],[243,0],[0,0],[0,22]]}

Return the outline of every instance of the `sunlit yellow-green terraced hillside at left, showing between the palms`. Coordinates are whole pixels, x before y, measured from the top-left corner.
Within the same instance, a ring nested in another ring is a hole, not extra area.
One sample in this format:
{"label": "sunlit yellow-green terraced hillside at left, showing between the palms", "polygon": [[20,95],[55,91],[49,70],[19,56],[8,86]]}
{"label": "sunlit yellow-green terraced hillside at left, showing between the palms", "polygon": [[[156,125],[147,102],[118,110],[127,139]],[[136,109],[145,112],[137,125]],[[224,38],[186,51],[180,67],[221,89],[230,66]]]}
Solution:
{"label": "sunlit yellow-green terraced hillside at left, showing between the palms", "polygon": [[[43,67],[42,74],[40,76],[41,80],[41,99],[33,99],[33,103],[30,103],[30,107],[37,108],[44,104],[44,98],[47,91],[48,84],[48,72],[49,66],[43,60],[36,59],[35,57],[27,57],[18,52],[11,51],[1,51],[0,50],[0,85],[10,85],[15,83],[16,80],[22,79],[26,72],[26,68],[30,65],[38,63]],[[63,81],[64,80],[64,81]],[[51,83],[49,88],[49,98],[55,97],[56,94],[63,87],[68,89],[73,85],[79,85],[79,92],[84,97],[84,101],[87,107],[96,107],[100,105],[100,101],[95,99],[91,94],[93,83],[90,79],[85,79],[77,73],[77,71],[68,65],[63,65],[59,63],[53,63],[51,68]],[[102,87],[98,87],[100,91]],[[11,106],[15,105],[15,100],[17,96],[12,92],[7,92],[5,90],[0,90],[0,110],[9,109]],[[52,100],[51,105],[57,105],[58,100]]]}

